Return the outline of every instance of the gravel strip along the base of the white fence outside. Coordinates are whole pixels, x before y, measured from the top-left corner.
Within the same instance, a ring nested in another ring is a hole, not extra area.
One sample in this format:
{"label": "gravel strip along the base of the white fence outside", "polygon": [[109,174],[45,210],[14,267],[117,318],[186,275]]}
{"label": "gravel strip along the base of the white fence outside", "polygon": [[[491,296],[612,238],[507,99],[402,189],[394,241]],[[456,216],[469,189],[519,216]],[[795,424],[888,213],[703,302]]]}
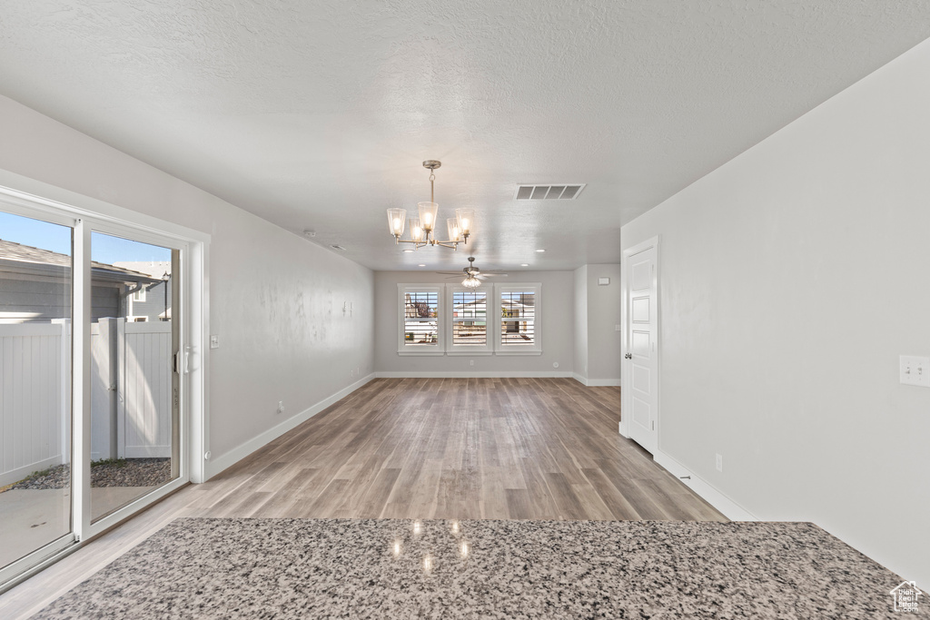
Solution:
{"label": "gravel strip along the base of the white fence outside", "polygon": [[[170,458],[126,458],[106,461],[90,467],[90,486],[158,486],[171,480]],[[34,476],[8,486],[11,489],[63,489],[71,483],[71,465],[51,468],[43,476]]]}

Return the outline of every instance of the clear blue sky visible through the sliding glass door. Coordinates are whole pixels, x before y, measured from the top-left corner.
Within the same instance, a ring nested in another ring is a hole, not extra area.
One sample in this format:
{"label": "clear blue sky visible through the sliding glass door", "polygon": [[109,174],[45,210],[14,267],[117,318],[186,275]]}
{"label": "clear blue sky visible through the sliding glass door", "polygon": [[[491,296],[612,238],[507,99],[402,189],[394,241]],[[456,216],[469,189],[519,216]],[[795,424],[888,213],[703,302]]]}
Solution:
{"label": "clear blue sky visible through the sliding glass door", "polygon": [[[71,229],[38,219],[0,212],[0,239],[15,244],[32,245],[59,254],[72,254]],[[169,261],[171,250],[94,232],[90,237],[90,257],[110,265],[123,260]]]}

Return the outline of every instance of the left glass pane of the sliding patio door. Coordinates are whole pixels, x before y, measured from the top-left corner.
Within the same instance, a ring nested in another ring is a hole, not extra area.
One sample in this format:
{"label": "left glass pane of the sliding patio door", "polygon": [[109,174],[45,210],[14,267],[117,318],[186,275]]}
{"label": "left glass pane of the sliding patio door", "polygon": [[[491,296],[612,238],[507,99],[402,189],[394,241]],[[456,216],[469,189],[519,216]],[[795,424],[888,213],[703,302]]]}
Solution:
{"label": "left glass pane of the sliding patio door", "polygon": [[0,213],[0,568],[72,531],[72,229]]}

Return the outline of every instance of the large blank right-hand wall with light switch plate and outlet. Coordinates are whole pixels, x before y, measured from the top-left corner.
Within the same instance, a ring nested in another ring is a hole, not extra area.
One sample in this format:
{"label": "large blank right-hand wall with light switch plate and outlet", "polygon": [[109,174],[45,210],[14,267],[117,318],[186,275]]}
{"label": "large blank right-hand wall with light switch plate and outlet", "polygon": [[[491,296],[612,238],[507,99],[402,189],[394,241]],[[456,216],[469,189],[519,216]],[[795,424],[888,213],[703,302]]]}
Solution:
{"label": "large blank right-hand wall with light switch plate and outlet", "polygon": [[[930,42],[637,218],[661,235],[659,450],[930,587]],[[724,471],[714,455],[724,456]]]}

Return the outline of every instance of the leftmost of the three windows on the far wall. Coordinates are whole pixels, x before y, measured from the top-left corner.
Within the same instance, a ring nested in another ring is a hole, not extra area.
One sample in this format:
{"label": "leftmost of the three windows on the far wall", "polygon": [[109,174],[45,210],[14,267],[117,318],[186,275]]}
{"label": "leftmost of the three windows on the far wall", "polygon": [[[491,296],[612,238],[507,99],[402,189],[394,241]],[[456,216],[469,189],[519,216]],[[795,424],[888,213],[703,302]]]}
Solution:
{"label": "leftmost of the three windows on the far wall", "polygon": [[440,329],[442,286],[398,284],[401,355],[442,355],[445,338]]}

